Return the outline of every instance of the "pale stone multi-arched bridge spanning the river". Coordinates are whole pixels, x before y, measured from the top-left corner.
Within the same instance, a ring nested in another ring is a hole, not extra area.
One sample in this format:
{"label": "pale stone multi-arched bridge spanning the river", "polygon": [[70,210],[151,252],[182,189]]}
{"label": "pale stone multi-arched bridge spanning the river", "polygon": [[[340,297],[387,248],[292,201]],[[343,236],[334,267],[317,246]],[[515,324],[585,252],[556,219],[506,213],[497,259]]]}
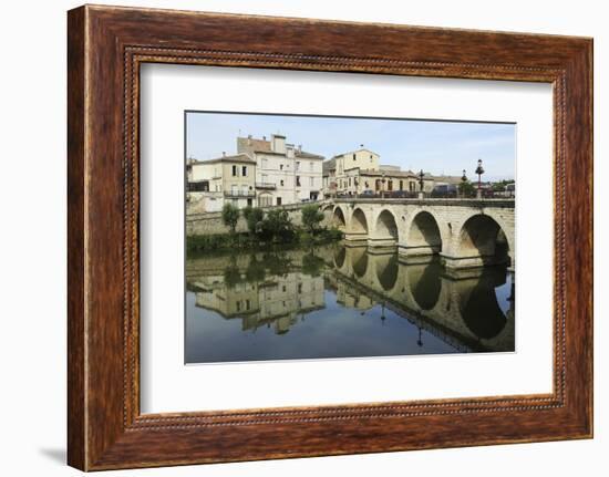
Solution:
{"label": "pale stone multi-arched bridge spanning the river", "polygon": [[394,249],[416,262],[440,255],[447,269],[515,267],[514,199],[349,199],[324,203],[349,245]]}

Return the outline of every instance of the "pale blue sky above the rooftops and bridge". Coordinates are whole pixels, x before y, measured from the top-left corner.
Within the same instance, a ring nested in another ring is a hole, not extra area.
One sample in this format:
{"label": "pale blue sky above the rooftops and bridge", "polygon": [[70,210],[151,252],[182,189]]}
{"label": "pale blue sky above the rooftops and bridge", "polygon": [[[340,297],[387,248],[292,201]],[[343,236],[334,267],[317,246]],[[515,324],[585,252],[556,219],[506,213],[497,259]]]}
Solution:
{"label": "pale blue sky above the rooftops and bridge", "polygon": [[236,154],[237,136],[269,139],[277,133],[326,158],[363,144],[380,154],[380,164],[402,170],[461,176],[465,169],[474,180],[479,158],[483,180],[513,179],[515,174],[516,125],[503,123],[188,112],[186,156],[205,160],[223,152]]}

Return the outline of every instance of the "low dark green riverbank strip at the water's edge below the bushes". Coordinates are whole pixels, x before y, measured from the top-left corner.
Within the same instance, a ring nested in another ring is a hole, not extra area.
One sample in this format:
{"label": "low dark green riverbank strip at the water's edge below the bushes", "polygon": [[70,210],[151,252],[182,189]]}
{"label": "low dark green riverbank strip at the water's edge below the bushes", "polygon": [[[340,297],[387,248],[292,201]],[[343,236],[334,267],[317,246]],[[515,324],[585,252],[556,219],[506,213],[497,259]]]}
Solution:
{"label": "low dark green riverbank strip at the water's edge below the bushes", "polygon": [[298,246],[319,246],[340,241],[343,234],[334,228],[322,229],[311,235],[304,230],[296,230],[283,239],[262,240],[255,234],[214,234],[197,235],[186,238],[187,255],[211,253],[219,251],[247,251]]}

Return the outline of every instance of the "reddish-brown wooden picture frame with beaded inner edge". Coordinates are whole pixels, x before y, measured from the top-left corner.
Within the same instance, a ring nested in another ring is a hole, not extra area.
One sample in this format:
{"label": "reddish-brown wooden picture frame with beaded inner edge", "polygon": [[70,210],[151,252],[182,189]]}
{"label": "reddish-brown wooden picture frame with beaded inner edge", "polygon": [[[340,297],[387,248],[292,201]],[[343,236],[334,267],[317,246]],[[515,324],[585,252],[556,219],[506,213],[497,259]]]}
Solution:
{"label": "reddish-brown wooden picture frame with beaded inner edge", "polygon": [[[71,466],[101,470],[592,436],[591,39],[92,6],[71,10],[68,19]],[[144,62],[551,83],[554,392],[142,415]]]}

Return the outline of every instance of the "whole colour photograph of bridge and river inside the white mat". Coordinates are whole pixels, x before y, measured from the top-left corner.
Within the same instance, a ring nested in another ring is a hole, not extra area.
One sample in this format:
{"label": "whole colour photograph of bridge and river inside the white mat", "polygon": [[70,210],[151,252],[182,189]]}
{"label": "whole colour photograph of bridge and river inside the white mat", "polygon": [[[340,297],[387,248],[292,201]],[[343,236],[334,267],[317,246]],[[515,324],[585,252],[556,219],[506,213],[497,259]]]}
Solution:
{"label": "whole colour photograph of bridge and river inside the white mat", "polygon": [[516,124],[184,121],[185,364],[516,351]]}

